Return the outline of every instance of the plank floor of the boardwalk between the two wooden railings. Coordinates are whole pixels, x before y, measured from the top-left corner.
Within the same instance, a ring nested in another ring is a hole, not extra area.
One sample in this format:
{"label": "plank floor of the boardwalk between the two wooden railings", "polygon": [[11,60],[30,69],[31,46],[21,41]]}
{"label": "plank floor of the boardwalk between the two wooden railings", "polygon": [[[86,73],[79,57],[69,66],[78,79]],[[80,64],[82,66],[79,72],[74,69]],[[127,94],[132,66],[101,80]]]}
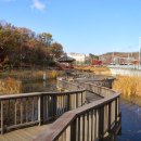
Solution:
{"label": "plank floor of the boardwalk between the two wooden railings", "polygon": [[[86,91],[86,95],[88,103],[102,99],[102,97],[99,97],[98,94],[91,93],[89,91]],[[33,141],[33,139],[35,139],[49,126],[50,124],[10,131],[2,136],[0,134],[0,141]]]}

